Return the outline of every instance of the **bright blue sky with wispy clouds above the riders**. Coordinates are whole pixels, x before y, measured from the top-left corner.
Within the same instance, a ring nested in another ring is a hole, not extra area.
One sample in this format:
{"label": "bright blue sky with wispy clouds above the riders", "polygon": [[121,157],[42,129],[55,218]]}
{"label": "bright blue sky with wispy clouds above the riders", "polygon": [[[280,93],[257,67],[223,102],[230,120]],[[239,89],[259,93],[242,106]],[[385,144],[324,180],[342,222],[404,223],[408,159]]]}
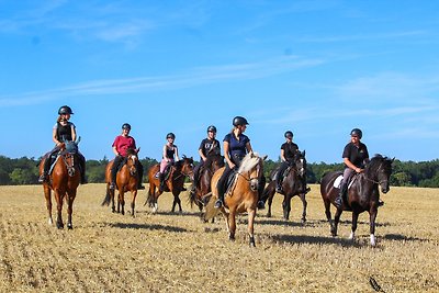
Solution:
{"label": "bright blue sky with wispy clouds above the riders", "polygon": [[0,155],[40,158],[61,105],[87,159],[112,158],[123,123],[140,158],[169,132],[199,159],[245,116],[278,160],[285,131],[308,162],[369,153],[439,158],[439,1],[0,0]]}

